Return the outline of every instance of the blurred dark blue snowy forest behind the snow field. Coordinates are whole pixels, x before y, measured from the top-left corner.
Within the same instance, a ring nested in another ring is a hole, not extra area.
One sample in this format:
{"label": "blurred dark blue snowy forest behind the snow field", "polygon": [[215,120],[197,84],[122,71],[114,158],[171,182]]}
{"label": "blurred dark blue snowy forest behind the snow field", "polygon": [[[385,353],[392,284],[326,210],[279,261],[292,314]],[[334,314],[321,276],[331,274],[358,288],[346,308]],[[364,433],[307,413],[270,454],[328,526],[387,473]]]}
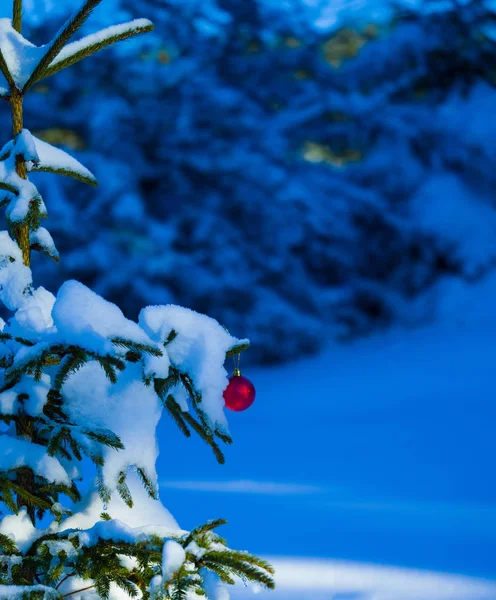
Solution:
{"label": "blurred dark blue snowy forest behind the snow field", "polygon": [[[78,3],[25,1],[27,35]],[[131,318],[189,306],[266,364],[494,278],[496,2],[106,0],[86,27],[137,16],[153,34],[27,101],[100,182],[37,176],[62,256],[36,257],[44,285]]]}

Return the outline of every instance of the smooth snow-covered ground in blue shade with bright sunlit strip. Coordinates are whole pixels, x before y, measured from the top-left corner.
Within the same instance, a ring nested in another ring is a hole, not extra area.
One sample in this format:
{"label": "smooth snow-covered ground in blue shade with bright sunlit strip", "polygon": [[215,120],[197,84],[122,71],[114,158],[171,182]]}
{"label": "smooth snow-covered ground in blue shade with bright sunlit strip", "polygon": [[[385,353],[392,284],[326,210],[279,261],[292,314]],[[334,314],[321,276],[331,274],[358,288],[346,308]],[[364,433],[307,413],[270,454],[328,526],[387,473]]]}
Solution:
{"label": "smooth snow-covered ground in blue shade with bright sunlit strip", "polygon": [[487,310],[466,325],[393,331],[244,371],[257,400],[230,415],[224,467],[163,422],[162,448],[180,453],[159,458],[162,500],[182,526],[227,517],[231,545],[276,557],[274,599],[496,599],[486,291]]}

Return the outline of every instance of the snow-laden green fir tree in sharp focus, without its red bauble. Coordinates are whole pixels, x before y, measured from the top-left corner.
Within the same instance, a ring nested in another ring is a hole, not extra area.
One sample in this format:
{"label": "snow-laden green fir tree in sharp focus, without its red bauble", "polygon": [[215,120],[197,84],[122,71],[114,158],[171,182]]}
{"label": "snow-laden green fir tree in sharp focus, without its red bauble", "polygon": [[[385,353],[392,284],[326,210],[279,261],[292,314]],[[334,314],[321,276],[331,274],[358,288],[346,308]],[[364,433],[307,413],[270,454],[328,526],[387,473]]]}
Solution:
{"label": "snow-laden green fir tree in sharp focus, without its red bauble", "polygon": [[149,306],[134,322],[77,281],[56,296],[33,283],[32,252],[59,255],[30,174],[96,180],[24,128],[25,95],[153,28],[138,19],[73,41],[99,3],[86,0],[44,46],[21,34],[22,0],[0,21],[0,95],[13,125],[0,153],[0,300],[9,312],[0,333],[0,597],[215,599],[240,578],[272,588],[272,567],[230,549],[222,520],[181,530],[158,498],[155,471],[164,411],[223,462],[223,365],[248,341],[179,306]]}

